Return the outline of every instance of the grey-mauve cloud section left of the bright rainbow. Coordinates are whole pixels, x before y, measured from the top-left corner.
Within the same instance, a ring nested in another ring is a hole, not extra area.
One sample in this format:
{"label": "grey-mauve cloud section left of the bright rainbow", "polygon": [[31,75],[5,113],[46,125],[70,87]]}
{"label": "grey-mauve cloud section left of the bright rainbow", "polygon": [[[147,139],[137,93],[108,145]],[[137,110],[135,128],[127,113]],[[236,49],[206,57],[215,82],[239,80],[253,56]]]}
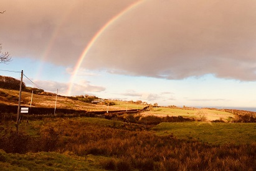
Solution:
{"label": "grey-mauve cloud section left of the bright rainbow", "polygon": [[13,58],[75,66],[95,33],[135,1],[2,0],[1,43]]}

